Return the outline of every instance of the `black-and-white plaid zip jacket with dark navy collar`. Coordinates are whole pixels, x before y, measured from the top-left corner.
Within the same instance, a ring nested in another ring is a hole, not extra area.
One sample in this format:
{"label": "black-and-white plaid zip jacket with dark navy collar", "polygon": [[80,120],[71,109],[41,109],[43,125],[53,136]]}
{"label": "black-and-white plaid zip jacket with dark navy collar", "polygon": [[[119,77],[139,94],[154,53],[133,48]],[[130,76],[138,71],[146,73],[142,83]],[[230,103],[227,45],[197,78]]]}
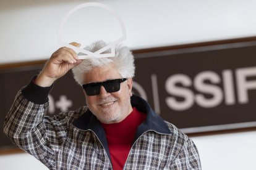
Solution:
{"label": "black-and-white plaid zip jacket with dark navy collar", "polygon": [[[12,142],[49,169],[112,169],[105,132],[91,111],[82,107],[45,116],[48,102],[24,97],[36,88],[19,91],[7,113],[4,133]],[[131,103],[147,118],[137,129],[124,169],[201,169],[191,139],[163,121],[145,100],[133,96]]]}

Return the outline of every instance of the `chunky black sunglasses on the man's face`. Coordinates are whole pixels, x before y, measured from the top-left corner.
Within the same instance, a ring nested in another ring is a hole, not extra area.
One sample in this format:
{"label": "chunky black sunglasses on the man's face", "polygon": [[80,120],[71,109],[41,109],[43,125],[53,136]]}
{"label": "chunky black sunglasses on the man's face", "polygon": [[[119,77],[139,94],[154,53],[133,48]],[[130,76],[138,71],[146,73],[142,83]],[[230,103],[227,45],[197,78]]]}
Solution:
{"label": "chunky black sunglasses on the man's face", "polygon": [[110,79],[108,81],[99,83],[88,83],[83,84],[83,89],[87,95],[98,95],[100,94],[100,88],[103,86],[106,92],[117,92],[120,90],[120,83],[126,81],[127,78]]}

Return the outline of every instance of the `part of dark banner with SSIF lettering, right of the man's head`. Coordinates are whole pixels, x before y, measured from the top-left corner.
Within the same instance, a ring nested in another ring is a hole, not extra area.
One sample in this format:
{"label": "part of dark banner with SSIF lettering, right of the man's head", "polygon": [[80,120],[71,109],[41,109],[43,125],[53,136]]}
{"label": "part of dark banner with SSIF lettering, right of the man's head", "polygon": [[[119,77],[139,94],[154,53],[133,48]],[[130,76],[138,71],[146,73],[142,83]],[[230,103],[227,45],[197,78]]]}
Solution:
{"label": "part of dark banner with SSIF lettering, right of the man's head", "polygon": [[256,126],[256,42],[135,56],[134,91],[182,131]]}

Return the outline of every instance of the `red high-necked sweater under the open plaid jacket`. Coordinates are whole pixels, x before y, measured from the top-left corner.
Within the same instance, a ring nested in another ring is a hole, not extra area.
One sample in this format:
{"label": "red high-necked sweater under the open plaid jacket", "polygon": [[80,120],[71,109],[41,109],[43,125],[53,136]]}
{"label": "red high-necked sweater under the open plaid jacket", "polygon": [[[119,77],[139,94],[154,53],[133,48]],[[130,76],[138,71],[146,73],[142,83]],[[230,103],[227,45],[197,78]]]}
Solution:
{"label": "red high-necked sweater under the open plaid jacket", "polygon": [[102,123],[114,170],[124,168],[137,127],[145,120],[146,116],[134,108],[132,113],[119,123]]}

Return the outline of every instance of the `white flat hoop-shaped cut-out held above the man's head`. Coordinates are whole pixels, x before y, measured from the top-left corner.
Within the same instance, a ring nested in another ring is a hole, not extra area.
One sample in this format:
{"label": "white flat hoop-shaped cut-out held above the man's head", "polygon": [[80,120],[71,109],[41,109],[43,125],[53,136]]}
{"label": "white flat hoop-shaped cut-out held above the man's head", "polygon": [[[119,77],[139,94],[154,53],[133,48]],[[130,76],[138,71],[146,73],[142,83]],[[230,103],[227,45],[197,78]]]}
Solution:
{"label": "white flat hoop-shaped cut-out held above the man's head", "polygon": [[[114,15],[114,17],[117,18],[119,24],[121,25],[122,37],[117,39],[116,41],[111,42],[110,44],[108,44],[107,46],[103,47],[102,49],[100,49],[96,52],[90,52],[85,49],[82,49],[81,47],[75,47],[75,46],[72,46],[71,44],[67,44],[66,42],[62,41],[62,30],[63,30],[64,23],[72,14],[74,14],[75,11],[82,9],[84,7],[101,7],[103,9],[106,9],[109,12],[111,12]],[[65,15],[65,17],[62,19],[61,25],[59,26],[59,33],[58,33],[59,45],[69,47],[69,48],[73,49],[75,52],[77,52],[77,54],[79,52],[81,52],[83,54],[87,54],[87,55],[79,55],[78,56],[79,59],[88,59],[90,57],[96,57],[96,58],[114,57],[114,55],[115,55],[114,48],[115,48],[116,44],[119,44],[119,42],[124,41],[124,39],[126,39],[126,28],[125,28],[124,23],[122,22],[121,18],[119,17],[119,15],[110,7],[108,7],[104,4],[98,3],[98,2],[88,2],[88,3],[80,4],[79,6],[74,7]],[[111,53],[101,54],[102,52],[105,52],[108,49],[111,49]]]}

